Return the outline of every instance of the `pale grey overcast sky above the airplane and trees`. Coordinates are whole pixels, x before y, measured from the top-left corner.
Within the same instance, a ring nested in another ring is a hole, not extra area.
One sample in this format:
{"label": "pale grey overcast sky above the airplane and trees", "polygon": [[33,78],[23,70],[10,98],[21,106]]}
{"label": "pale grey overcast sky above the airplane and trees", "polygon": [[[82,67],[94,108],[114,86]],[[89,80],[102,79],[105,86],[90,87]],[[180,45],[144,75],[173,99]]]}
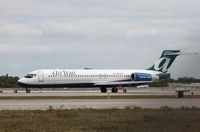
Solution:
{"label": "pale grey overcast sky above the airplane and trees", "polygon": [[[0,0],[0,75],[44,68],[145,69],[164,49],[200,51],[200,0]],[[200,56],[172,77],[200,78]]]}

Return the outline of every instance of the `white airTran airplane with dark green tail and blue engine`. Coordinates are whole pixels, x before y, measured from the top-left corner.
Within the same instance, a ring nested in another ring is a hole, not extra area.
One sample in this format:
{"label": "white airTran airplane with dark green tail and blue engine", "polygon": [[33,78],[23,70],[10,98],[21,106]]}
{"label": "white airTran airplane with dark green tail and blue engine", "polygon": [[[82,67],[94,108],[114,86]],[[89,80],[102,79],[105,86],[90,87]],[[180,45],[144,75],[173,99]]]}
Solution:
{"label": "white airTran airplane with dark green tail and blue engine", "polygon": [[17,84],[30,93],[31,88],[89,88],[99,87],[102,93],[107,88],[117,93],[118,88],[146,85],[163,79],[169,79],[167,73],[179,56],[180,50],[164,50],[161,57],[146,70],[114,69],[41,69],[28,73]]}

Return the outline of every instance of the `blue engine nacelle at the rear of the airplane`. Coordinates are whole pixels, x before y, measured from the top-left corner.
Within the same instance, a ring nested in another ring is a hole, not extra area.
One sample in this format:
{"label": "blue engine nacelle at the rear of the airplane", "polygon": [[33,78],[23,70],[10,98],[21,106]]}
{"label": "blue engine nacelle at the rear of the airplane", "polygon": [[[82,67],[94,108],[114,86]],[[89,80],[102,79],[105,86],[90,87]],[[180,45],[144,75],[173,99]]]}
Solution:
{"label": "blue engine nacelle at the rear of the airplane", "polygon": [[131,80],[133,81],[152,81],[153,77],[148,73],[132,73]]}

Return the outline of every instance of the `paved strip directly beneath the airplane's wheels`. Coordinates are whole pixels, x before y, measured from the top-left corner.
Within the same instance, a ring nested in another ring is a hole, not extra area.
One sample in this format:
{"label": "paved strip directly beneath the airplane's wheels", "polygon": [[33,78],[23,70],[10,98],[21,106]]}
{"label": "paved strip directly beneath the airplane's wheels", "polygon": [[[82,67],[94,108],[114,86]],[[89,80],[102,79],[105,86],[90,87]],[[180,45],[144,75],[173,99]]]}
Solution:
{"label": "paved strip directly beneath the airplane's wheels", "polygon": [[[108,93],[102,94],[98,88],[96,89],[67,89],[67,90],[32,90],[27,94],[24,89],[19,90],[18,93],[13,93],[12,90],[4,90],[0,93],[0,97],[5,96],[127,96],[127,95],[175,95],[177,88],[127,88],[127,93],[123,93],[119,90],[118,93],[111,93],[110,89]],[[187,89],[188,90],[188,89]],[[195,95],[200,95],[200,89],[189,89],[190,92],[184,93],[185,95],[191,95],[193,92]]]}

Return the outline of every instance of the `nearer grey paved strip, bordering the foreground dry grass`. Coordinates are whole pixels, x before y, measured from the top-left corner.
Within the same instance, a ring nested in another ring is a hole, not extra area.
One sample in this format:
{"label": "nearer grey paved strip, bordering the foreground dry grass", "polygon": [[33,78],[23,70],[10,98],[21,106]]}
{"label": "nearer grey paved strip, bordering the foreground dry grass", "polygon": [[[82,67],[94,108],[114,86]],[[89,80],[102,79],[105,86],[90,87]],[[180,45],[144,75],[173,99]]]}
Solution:
{"label": "nearer grey paved strip, bordering the foreground dry grass", "polygon": [[0,100],[0,110],[48,110],[48,109],[109,109],[109,108],[170,108],[197,107],[200,99],[64,99],[64,100]]}

